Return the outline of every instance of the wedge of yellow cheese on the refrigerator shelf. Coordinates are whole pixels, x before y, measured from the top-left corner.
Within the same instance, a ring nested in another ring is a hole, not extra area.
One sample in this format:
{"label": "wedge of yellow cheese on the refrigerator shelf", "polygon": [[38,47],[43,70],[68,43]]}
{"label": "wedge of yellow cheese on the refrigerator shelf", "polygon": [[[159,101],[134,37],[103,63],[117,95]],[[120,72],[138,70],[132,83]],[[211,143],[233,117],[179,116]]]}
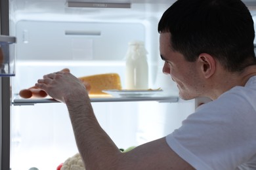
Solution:
{"label": "wedge of yellow cheese on the refrigerator shelf", "polygon": [[80,80],[88,82],[91,86],[89,95],[97,97],[98,95],[109,96],[102,90],[121,90],[121,80],[117,73],[106,73],[100,75],[82,76]]}

